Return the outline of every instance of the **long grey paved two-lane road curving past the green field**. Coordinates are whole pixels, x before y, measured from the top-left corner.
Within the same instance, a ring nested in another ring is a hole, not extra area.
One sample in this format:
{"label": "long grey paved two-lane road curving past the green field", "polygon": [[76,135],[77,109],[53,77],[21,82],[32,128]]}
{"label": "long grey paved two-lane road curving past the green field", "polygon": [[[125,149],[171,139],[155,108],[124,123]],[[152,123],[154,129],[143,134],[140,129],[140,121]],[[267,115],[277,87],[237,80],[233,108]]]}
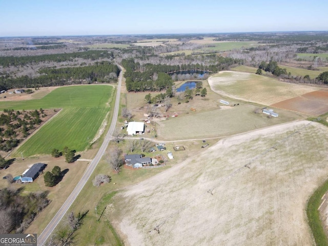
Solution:
{"label": "long grey paved two-lane road curving past the green field", "polygon": [[122,76],[123,76],[123,69],[121,66],[119,66],[119,69],[121,70],[119,77],[118,77],[118,86],[117,86],[117,93],[116,93],[116,100],[115,100],[115,107],[114,107],[114,114],[111,126],[108,130],[108,133],[105,137],[105,140],[103,144],[101,145],[98,153],[94,157],[94,159],[90,162],[89,166],[86,169],[86,172],[84,173],[81,180],[77,183],[75,189],[72,191],[70,196],[67,198],[67,200],[64,202],[63,206],[58,210],[56,215],[52,218],[48,226],[45,228],[45,230],[38,236],[37,238],[37,245],[44,245],[48,237],[51,235],[57,224],[60,222],[60,220],[63,218],[63,216],[67,213],[68,209],[71,207],[71,204],[77,197],[77,195],[80,193],[82,188],[85,186],[86,182],[90,178],[91,174],[93,173],[94,169],[96,168],[101,156],[104,155],[105,150],[108,146],[109,141],[111,140],[113,131],[115,129],[117,116],[118,116],[118,108],[119,108],[119,96],[121,91],[121,84],[122,84]]}

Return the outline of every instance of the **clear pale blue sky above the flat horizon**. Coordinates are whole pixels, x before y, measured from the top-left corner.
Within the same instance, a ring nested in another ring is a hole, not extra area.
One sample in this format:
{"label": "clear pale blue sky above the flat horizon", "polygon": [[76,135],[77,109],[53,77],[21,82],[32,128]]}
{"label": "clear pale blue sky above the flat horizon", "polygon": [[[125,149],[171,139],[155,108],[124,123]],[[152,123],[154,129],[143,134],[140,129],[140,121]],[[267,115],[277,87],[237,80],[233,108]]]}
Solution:
{"label": "clear pale blue sky above the flat horizon", "polygon": [[328,30],[326,0],[0,0],[0,10],[0,36]]}

